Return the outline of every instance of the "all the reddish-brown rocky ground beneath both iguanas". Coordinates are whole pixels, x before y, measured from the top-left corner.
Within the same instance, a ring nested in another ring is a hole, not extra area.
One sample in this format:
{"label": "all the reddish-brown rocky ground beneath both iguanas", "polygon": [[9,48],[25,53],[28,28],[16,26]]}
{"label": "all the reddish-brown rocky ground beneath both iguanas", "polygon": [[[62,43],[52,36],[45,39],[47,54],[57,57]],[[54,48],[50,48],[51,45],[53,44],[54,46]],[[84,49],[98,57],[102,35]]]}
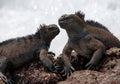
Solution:
{"label": "all the reddish-brown rocky ground beneath both iguanas", "polygon": [[[39,60],[26,64],[16,70],[15,84],[120,84],[120,48],[111,48],[106,51],[105,58],[100,62],[99,71],[84,70],[88,62],[86,58],[72,53],[72,65],[77,70],[66,80],[60,74],[55,74],[45,69]],[[53,57],[50,57],[53,61]],[[55,61],[60,61],[59,56]],[[0,81],[0,84],[1,83]]]}

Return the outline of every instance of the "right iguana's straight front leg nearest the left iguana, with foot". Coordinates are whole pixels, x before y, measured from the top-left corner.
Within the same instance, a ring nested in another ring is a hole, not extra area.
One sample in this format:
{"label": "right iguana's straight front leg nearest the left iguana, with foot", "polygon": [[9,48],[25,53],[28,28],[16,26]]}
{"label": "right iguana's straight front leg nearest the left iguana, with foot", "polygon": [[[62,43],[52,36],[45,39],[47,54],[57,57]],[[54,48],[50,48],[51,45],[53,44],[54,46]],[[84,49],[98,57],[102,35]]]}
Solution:
{"label": "right iguana's straight front leg nearest the left iguana, with foot", "polygon": [[63,70],[60,72],[60,74],[63,77],[68,77],[71,75],[71,73],[75,70],[72,65],[71,65],[71,61],[70,61],[70,57],[71,57],[71,52],[72,52],[72,48],[69,46],[69,44],[67,43],[63,49],[63,53],[61,54],[62,56],[62,61],[64,63],[63,65]]}

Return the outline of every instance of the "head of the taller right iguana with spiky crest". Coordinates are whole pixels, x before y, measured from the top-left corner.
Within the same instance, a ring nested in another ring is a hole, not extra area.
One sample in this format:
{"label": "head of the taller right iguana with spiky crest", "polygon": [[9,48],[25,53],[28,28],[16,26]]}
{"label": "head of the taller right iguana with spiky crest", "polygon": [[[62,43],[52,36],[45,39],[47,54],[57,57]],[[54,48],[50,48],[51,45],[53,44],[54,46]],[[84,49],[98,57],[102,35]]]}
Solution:
{"label": "head of the taller right iguana with spiky crest", "polygon": [[75,14],[64,14],[59,18],[58,23],[63,29],[75,28],[77,25],[84,26],[84,15],[80,15],[79,12]]}

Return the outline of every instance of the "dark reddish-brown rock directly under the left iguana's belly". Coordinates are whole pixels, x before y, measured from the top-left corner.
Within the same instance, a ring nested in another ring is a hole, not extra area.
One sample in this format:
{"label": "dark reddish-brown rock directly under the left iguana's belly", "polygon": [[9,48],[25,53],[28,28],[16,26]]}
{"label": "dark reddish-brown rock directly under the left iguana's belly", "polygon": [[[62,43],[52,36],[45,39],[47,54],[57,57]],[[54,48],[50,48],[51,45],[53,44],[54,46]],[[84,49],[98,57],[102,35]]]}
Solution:
{"label": "dark reddish-brown rock directly under the left iguana's belly", "polygon": [[[53,57],[50,57],[53,60]],[[62,78],[59,74],[48,71],[41,61],[26,64],[13,73],[16,84],[56,84]]]}

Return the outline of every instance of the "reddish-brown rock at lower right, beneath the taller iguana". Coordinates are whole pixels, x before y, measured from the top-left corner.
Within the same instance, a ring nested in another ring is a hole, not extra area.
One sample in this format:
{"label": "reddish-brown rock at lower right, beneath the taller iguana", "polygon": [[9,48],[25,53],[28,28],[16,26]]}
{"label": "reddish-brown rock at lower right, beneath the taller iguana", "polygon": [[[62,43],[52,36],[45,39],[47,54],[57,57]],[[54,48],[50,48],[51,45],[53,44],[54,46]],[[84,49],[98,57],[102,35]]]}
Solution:
{"label": "reddish-brown rock at lower right, beneath the taller iguana", "polygon": [[106,51],[99,71],[75,71],[65,81],[58,84],[120,84],[120,48]]}

